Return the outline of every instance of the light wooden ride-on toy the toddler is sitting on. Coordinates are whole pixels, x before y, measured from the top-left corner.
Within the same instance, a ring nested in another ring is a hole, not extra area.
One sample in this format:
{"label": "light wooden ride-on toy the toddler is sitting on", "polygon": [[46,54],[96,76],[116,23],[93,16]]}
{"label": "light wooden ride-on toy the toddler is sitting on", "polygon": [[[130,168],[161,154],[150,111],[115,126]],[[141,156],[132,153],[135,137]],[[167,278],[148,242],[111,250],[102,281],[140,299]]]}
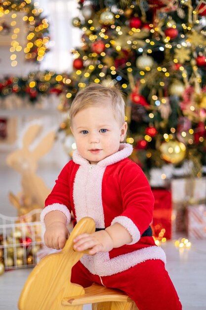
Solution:
{"label": "light wooden ride-on toy the toddler is sitting on", "polygon": [[95,231],[92,218],[85,217],[73,229],[64,249],[42,258],[32,270],[21,292],[19,310],[82,310],[92,304],[92,310],[138,310],[124,292],[98,284],[90,287],[71,283],[72,267],[84,253],[73,250],[73,239],[82,233]]}

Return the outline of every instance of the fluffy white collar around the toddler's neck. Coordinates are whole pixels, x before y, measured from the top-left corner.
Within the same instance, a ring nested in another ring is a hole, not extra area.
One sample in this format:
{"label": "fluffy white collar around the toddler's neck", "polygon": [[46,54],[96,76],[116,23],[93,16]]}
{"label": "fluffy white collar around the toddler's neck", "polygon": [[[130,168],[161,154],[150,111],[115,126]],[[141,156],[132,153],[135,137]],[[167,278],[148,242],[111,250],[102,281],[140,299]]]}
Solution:
{"label": "fluffy white collar around the toddler's neck", "polygon": [[[133,151],[132,145],[128,143],[121,143],[119,151],[115,154],[112,154],[102,160],[100,160],[97,165],[98,166],[109,166],[115,162],[118,162],[120,160],[123,160],[124,158],[128,157],[131,155]],[[89,162],[87,159],[83,158],[81,155],[79,155],[78,151],[74,151],[72,155],[73,161],[75,163],[78,163],[80,165],[89,165]]]}

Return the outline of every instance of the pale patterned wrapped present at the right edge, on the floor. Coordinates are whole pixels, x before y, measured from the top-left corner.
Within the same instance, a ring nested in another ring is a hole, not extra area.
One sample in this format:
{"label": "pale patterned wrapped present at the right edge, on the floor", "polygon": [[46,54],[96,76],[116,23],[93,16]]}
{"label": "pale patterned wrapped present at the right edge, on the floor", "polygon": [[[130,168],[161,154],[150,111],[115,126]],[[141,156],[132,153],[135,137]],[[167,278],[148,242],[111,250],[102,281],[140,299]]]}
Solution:
{"label": "pale patterned wrapped present at the right edge, on the floor", "polygon": [[187,231],[189,239],[206,239],[206,205],[187,207]]}

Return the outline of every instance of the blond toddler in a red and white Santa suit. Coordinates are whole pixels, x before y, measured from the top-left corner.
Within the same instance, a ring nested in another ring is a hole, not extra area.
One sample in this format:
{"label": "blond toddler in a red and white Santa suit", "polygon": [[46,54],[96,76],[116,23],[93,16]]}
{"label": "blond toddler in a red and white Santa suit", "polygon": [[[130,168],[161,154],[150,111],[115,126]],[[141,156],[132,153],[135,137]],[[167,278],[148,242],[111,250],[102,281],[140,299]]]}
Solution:
{"label": "blond toddler in a red and white Santa suit", "polygon": [[150,185],[127,158],[132,146],[123,143],[127,123],[121,92],[91,84],[77,94],[70,117],[77,150],[41,212],[45,245],[64,247],[71,212],[76,222],[92,217],[96,231],[74,239],[74,249],[89,254],[73,267],[71,282],[120,289],[139,310],[181,310],[165,270],[165,253],[152,237]]}

